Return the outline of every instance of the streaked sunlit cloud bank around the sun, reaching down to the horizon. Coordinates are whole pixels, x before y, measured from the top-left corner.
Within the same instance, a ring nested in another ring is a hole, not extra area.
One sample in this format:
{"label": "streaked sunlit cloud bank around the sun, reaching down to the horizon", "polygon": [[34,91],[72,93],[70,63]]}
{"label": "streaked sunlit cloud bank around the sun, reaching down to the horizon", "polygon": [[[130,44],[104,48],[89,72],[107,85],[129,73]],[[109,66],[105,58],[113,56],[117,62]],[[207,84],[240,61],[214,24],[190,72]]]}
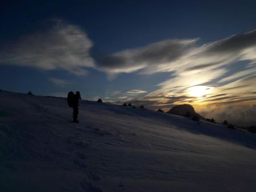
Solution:
{"label": "streaked sunlit cloud bank around the sun, reaching down to the horizon", "polygon": [[[166,40],[144,48],[117,52],[105,58],[114,63],[111,65],[101,60],[100,67],[108,73],[172,72],[170,78],[158,84],[155,91],[143,97],[130,98],[129,102],[135,105],[153,109],[159,106],[170,108],[181,103],[190,103],[196,107],[231,106],[227,110],[227,119],[236,119],[237,116],[239,120],[233,122],[242,123],[244,115],[239,111],[232,115],[232,110],[240,107],[232,106],[240,103],[243,107],[249,107],[256,103],[256,30],[203,45],[198,45],[198,39]],[[201,93],[195,95],[200,97],[193,97],[197,87],[200,87]],[[193,88],[196,89],[193,91]],[[248,122],[255,123],[255,107],[248,111],[243,114],[247,115]],[[221,119],[217,116],[217,110],[212,113],[213,118]]]}

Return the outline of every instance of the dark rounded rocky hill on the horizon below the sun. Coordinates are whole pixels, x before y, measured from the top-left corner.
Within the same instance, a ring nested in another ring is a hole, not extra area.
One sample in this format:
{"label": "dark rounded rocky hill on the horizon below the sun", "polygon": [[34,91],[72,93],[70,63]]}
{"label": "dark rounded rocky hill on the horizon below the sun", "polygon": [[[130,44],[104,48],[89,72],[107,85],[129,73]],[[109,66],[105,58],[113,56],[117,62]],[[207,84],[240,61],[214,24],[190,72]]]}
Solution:
{"label": "dark rounded rocky hill on the horizon below the sun", "polygon": [[174,106],[169,111],[167,111],[166,113],[167,114],[172,114],[172,115],[185,116],[185,117],[197,116],[199,119],[205,119],[203,116],[196,113],[193,106],[188,105],[188,104]]}

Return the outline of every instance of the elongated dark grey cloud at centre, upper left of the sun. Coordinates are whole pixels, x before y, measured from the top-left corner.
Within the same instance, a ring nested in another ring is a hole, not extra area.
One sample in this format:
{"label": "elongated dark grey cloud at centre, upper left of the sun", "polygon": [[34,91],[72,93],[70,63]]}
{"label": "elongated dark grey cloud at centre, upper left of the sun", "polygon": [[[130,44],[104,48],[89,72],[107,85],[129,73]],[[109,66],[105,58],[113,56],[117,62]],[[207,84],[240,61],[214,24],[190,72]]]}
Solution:
{"label": "elongated dark grey cloud at centre, upper left of the sun", "polygon": [[97,68],[113,75],[168,64],[188,53],[196,41],[197,39],[170,39],[146,47],[127,49],[98,58]]}

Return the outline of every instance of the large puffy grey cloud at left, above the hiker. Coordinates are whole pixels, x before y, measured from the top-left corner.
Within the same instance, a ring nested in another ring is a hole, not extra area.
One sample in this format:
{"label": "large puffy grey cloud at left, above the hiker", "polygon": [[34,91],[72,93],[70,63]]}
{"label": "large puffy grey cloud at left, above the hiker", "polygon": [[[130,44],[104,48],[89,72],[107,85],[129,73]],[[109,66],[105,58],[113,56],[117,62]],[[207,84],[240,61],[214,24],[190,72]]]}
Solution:
{"label": "large puffy grey cloud at left, above the hiker", "polygon": [[53,20],[44,31],[20,37],[0,51],[0,64],[32,66],[43,70],[62,69],[78,76],[94,67],[89,51],[93,43],[79,26]]}

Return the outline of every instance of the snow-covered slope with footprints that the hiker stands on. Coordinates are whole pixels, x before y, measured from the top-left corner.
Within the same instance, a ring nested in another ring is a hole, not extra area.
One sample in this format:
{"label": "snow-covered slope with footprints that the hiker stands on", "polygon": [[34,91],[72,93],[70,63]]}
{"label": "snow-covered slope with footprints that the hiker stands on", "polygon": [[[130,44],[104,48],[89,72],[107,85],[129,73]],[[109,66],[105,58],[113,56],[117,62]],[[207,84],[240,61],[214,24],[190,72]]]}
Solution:
{"label": "snow-covered slope with footprints that the hiker stands on", "polygon": [[139,108],[0,93],[0,191],[256,191],[256,135]]}

